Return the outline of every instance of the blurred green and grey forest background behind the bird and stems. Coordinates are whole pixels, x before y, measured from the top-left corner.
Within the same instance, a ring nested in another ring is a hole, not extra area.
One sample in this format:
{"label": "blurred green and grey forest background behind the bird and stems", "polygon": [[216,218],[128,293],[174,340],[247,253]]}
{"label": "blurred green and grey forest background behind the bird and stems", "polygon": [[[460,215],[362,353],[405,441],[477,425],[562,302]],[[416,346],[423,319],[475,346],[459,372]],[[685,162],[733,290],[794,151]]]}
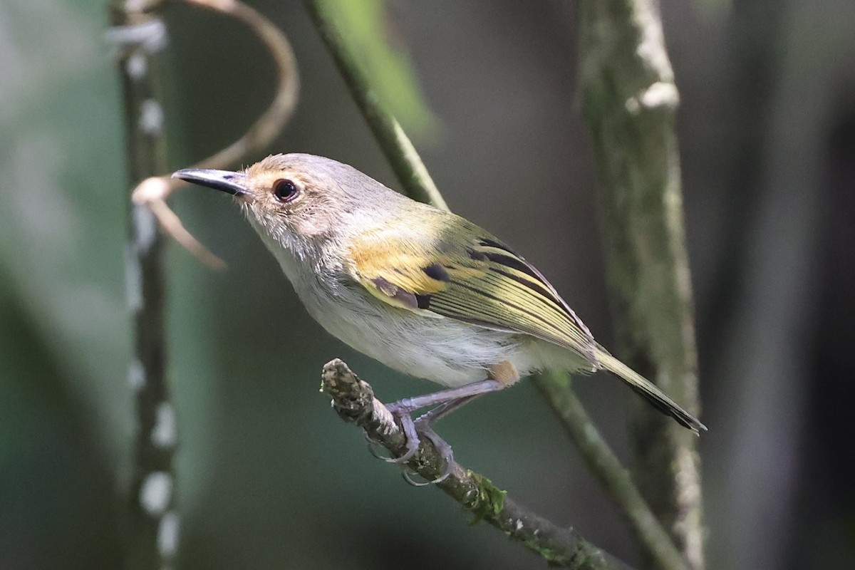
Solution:
{"label": "blurred green and grey forest background behind the bird and stems", "polygon": [[[575,6],[329,0],[451,208],[550,277],[606,345]],[[301,102],[273,151],[397,187],[301,3]],[[855,557],[855,3],[663,0],[697,296],[710,567]],[[0,2],[0,568],[120,566],[133,433],[121,100],[95,0]],[[168,10],[172,164],[239,135],[272,94],[247,30]],[[254,156],[253,162],[262,155]],[[172,247],[169,348],[186,568],[519,568],[541,562],[374,461],[317,393],[340,356],[387,401],[428,390],[330,338],[225,197],[183,191],[229,267]],[[630,461],[607,378],[581,396]],[[495,418],[506,421],[497,422]],[[460,461],[628,561],[615,508],[527,383],[444,420]]]}

